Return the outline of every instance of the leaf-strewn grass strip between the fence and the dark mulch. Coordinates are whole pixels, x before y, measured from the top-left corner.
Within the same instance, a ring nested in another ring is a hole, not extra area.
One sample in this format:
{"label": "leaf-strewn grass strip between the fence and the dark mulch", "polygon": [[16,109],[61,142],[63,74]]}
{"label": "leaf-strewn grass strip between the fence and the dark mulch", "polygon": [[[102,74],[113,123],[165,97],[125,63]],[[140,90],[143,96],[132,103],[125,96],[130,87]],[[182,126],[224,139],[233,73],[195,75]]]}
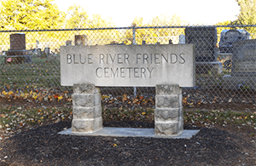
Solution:
{"label": "leaf-strewn grass strip between the fence and the dark mulch", "polygon": [[[68,103],[61,108],[27,108],[24,106],[0,107],[0,128],[4,129],[6,132],[10,132],[26,129],[33,125],[56,123],[60,120],[71,120],[73,118],[72,113],[72,106]],[[102,118],[105,122],[139,121],[154,123],[154,109],[107,109],[102,106]],[[192,126],[212,128],[218,125],[256,129],[256,112],[184,111],[183,119],[186,125]]]}

